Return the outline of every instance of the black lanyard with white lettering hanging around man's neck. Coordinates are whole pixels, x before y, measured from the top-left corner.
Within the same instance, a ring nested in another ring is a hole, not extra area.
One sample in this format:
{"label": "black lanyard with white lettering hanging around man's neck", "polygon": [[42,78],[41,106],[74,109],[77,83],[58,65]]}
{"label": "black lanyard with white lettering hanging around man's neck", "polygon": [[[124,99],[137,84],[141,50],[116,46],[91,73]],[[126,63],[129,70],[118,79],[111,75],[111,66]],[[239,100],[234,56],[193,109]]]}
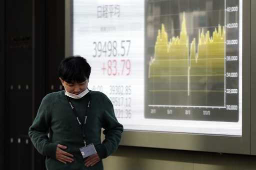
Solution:
{"label": "black lanyard with white lettering hanging around man's neck", "polygon": [[77,114],[77,111],[74,107],[74,105],[72,104],[72,102],[70,101],[70,98],[68,96],[66,96],[66,99],[68,101],[68,104],[70,105],[75,117],[76,117],[76,120],[78,122],[78,125],[81,127],[81,131],[82,131],[82,138],[83,138],[83,143],[84,145],[86,146],[86,136],[85,136],[85,131],[84,131],[84,125],[86,123],[86,119],[87,119],[87,114],[88,114],[88,110],[89,110],[89,107],[90,107],[90,93],[88,94],[89,95],[89,102],[88,102],[88,105],[86,107],[86,110],[85,110],[85,115],[84,115],[84,123],[81,123],[82,121],[79,119],[79,116]]}

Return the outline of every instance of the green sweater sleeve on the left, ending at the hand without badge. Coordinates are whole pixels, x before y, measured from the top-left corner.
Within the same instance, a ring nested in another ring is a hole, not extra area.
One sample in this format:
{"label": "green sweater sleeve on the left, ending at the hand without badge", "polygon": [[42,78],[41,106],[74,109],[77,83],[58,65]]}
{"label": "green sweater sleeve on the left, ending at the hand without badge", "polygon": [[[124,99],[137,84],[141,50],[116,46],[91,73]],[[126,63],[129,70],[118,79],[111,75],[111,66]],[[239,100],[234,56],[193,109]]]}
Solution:
{"label": "green sweater sleeve on the left, ending at the hand without badge", "polygon": [[56,157],[57,144],[51,143],[47,136],[50,127],[50,100],[42,99],[37,115],[28,130],[28,135],[36,150],[44,156]]}

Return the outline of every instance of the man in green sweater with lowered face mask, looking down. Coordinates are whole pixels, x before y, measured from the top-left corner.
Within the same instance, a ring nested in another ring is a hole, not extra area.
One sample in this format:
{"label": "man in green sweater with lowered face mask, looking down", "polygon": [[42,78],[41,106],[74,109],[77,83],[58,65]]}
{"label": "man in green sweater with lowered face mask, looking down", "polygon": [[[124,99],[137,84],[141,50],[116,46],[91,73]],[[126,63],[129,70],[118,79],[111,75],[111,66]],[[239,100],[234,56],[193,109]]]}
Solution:
{"label": "man in green sweater with lowered face mask, looking down", "polygon": [[[80,56],[64,58],[58,68],[64,90],[42,99],[28,130],[36,150],[46,156],[47,170],[103,170],[101,160],[119,145],[123,126],[107,96],[88,89],[90,70]],[[88,146],[95,153],[83,158],[81,148]]]}

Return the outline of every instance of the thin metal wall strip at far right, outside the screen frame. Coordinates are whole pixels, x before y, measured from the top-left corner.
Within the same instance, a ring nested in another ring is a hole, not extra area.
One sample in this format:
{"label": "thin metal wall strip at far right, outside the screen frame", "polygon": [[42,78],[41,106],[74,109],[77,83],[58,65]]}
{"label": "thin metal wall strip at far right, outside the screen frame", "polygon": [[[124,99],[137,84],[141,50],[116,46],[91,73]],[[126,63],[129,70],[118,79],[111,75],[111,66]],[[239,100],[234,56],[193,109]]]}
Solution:
{"label": "thin metal wall strip at far right, outside the screen frame", "polygon": [[250,53],[250,65],[251,65],[251,96],[250,96],[250,103],[251,103],[251,116],[250,116],[250,124],[251,124],[251,155],[256,155],[256,1],[251,0],[251,38],[250,38],[250,46],[251,46],[251,53]]}

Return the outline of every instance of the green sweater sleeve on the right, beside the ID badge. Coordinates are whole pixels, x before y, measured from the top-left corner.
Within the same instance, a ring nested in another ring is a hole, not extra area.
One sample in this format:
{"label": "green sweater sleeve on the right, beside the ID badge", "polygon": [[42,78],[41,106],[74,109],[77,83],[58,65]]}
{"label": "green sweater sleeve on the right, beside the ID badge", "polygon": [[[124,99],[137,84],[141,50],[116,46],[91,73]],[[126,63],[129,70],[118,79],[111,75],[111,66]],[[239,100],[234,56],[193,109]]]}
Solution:
{"label": "green sweater sleeve on the right, beside the ID badge", "polygon": [[105,139],[102,144],[95,146],[98,156],[101,159],[108,157],[118,148],[123,132],[123,126],[118,123],[114,115],[113,105],[107,97],[104,101],[104,107],[103,134],[105,135]]}

